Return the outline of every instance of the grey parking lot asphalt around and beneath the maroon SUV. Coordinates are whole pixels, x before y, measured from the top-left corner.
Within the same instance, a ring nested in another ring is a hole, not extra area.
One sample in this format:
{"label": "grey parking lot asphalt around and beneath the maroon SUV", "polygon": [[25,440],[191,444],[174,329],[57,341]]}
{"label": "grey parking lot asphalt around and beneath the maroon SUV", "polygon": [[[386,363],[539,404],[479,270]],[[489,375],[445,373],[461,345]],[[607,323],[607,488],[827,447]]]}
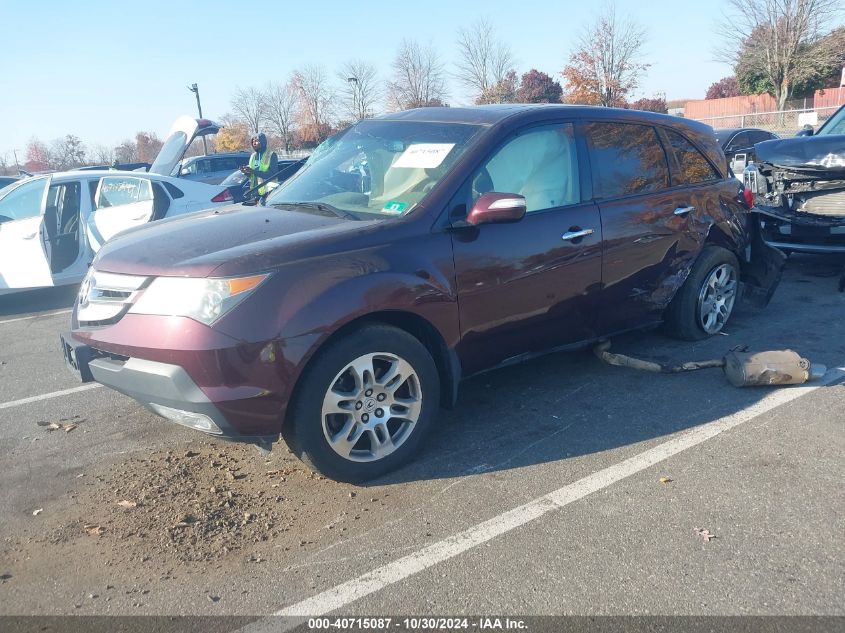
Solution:
{"label": "grey parking lot asphalt around and beneath the maroon SUV", "polygon": [[[725,336],[613,344],[658,361],[792,348],[824,383],[549,355],[465,382],[417,461],[358,487],[105,388],[55,395],[79,387],[56,342],[71,293],[0,298],[0,614],[845,615],[841,266],[791,258]],[[169,497],[182,481],[196,490]],[[224,485],[242,525],[174,527]]]}

